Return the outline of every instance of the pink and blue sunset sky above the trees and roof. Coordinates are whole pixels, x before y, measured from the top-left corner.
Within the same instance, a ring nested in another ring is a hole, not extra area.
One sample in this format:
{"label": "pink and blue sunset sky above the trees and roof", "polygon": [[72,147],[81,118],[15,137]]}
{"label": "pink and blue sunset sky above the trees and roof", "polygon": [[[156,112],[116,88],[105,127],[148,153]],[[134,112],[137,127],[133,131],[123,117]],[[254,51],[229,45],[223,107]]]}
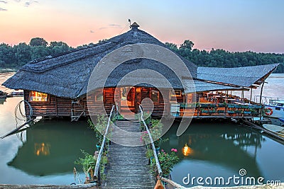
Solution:
{"label": "pink and blue sunset sky above the trees and roof", "polygon": [[282,0],[0,0],[0,43],[77,47],[125,33],[129,18],[162,42],[284,53]]}

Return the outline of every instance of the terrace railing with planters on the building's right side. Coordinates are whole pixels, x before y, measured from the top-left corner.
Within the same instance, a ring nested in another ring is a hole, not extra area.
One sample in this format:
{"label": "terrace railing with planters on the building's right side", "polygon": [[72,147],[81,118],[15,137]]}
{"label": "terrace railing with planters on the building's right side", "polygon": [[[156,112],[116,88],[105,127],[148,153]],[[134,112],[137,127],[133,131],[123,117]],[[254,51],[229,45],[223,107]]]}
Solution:
{"label": "terrace railing with planters on the building's right side", "polygon": [[259,118],[262,105],[247,103],[170,103],[173,117]]}

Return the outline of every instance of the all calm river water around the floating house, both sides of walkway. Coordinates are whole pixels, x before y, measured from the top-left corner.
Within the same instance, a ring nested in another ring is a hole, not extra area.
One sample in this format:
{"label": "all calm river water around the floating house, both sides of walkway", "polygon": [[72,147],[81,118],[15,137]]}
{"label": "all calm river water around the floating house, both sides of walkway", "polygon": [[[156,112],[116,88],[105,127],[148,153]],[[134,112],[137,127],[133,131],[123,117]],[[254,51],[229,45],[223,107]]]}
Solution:
{"label": "all calm river water around the floating house, both sides of walkway", "polygon": [[[0,73],[0,84],[13,73]],[[284,74],[272,74],[264,86],[263,96],[284,98]],[[0,90],[8,90],[0,86]],[[259,95],[253,93],[253,95]],[[6,98],[0,101],[0,135],[16,127],[14,108],[22,98]],[[175,123],[174,126],[178,126]],[[266,134],[240,125],[226,122],[192,122],[182,136],[175,135],[177,127],[166,134],[168,142],[162,149],[178,149],[180,161],[172,171],[173,181],[182,184],[182,179],[202,176],[246,176],[265,181],[284,182],[284,145]],[[81,156],[80,149],[90,154],[96,139],[86,121],[45,120],[29,127],[21,134],[0,139],[0,183],[10,184],[70,184],[74,183],[75,159]],[[187,154],[182,148],[188,145]],[[84,180],[81,172],[80,177]],[[265,182],[263,181],[263,182]],[[187,187],[197,182],[182,184]],[[234,183],[229,183],[234,185]]]}

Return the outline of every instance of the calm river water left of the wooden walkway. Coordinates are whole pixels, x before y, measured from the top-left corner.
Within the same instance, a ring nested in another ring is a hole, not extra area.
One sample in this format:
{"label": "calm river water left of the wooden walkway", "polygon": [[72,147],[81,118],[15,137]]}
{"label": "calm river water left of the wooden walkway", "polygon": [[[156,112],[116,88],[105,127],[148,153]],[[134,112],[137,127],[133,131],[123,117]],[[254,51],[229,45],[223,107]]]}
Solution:
{"label": "calm river water left of the wooden walkway", "polygon": [[[13,73],[0,73],[2,84]],[[0,90],[9,91],[0,86]],[[0,136],[16,128],[14,110],[22,97],[0,101]],[[21,124],[21,122],[19,122]],[[70,184],[74,183],[74,161],[80,149],[92,154],[97,140],[86,121],[44,120],[21,134],[0,139],[0,183]]]}

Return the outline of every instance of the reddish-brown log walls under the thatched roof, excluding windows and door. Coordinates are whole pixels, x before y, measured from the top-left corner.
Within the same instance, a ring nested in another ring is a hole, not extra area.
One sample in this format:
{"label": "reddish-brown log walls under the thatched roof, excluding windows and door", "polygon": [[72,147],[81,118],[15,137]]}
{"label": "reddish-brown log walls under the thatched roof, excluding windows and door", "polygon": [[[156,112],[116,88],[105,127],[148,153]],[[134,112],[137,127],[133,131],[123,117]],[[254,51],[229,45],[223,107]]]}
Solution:
{"label": "reddish-brown log walls under the thatched roof, excluding windows and door", "polygon": [[[141,104],[144,98],[151,98],[151,90],[158,91],[156,88],[146,88],[146,87],[136,87],[136,96],[135,96],[135,111],[138,113],[138,106]],[[163,115],[164,111],[164,105],[165,105],[165,115],[168,115],[170,113],[170,98],[169,98],[169,91],[168,89],[161,89],[162,91],[159,91],[159,100],[158,102],[154,103],[154,110],[153,110],[153,116],[161,117]],[[116,93],[115,93],[116,92]],[[116,101],[120,100],[120,91],[117,88],[104,88],[104,108],[109,114],[112,108],[112,105],[115,104]],[[92,96],[89,96],[91,101],[87,104],[87,98],[82,98],[80,100],[80,105],[85,110],[84,115],[89,116],[89,110],[88,106],[92,107],[92,110],[94,110],[95,114],[101,114],[104,113],[102,110],[101,104],[102,102],[96,101],[96,93],[94,93]],[[179,102],[183,101],[183,97],[177,97]],[[24,91],[24,99],[31,103],[31,106],[33,108],[33,117],[36,116],[50,116],[50,117],[70,117],[71,116],[71,109],[72,109],[72,99],[70,98],[61,98],[58,96],[53,96],[48,94],[48,102],[33,102],[30,101],[30,91]],[[74,107],[73,107],[74,108]],[[28,108],[28,105],[25,106],[26,115],[29,115],[30,110]],[[80,108],[78,108],[80,110]]]}

